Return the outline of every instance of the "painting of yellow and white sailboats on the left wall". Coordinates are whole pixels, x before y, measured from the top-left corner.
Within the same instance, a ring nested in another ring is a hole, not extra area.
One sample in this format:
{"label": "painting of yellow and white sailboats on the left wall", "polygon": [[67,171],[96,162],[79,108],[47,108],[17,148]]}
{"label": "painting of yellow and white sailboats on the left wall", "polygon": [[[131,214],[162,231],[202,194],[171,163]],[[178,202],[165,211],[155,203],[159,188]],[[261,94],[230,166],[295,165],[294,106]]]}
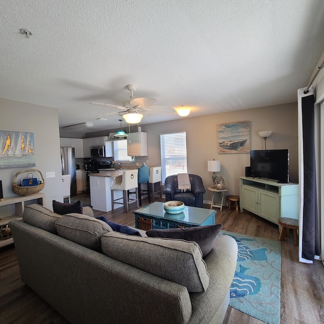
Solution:
{"label": "painting of yellow and white sailboats on the left wall", "polygon": [[34,133],[0,131],[0,169],[35,166]]}

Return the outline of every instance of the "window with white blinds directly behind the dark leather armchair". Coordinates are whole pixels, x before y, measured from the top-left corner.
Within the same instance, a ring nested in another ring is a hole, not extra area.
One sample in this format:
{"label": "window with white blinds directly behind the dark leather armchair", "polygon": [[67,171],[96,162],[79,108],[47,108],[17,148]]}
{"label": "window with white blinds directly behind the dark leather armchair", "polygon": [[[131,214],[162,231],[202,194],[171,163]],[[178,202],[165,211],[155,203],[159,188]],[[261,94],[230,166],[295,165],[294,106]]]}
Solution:
{"label": "window with white blinds directly behind the dark leather armchair", "polygon": [[160,134],[160,150],[163,184],[168,176],[187,173],[186,132]]}

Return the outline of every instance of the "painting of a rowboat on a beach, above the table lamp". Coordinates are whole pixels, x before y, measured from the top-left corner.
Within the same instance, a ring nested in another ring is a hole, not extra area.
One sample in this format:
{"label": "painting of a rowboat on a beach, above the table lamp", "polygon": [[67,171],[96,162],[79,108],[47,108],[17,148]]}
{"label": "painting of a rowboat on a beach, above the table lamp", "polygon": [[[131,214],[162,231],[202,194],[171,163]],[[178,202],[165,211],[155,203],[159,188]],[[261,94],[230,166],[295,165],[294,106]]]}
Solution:
{"label": "painting of a rowboat on a beach, above the table lamp", "polygon": [[250,153],[250,121],[217,126],[218,153]]}

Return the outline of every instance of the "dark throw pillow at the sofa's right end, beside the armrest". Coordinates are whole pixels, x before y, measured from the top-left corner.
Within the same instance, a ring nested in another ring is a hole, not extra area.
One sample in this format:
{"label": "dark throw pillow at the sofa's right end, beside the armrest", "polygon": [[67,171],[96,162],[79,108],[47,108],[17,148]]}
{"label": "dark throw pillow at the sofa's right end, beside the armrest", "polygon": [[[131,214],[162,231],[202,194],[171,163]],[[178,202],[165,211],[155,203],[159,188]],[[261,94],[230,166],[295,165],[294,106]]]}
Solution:
{"label": "dark throw pillow at the sofa's right end, beside the armrest", "polygon": [[199,245],[201,252],[203,252],[203,258],[205,258],[212,251],[216,236],[222,227],[222,224],[217,224],[186,228],[150,229],[146,232],[146,235],[148,237],[194,241]]}

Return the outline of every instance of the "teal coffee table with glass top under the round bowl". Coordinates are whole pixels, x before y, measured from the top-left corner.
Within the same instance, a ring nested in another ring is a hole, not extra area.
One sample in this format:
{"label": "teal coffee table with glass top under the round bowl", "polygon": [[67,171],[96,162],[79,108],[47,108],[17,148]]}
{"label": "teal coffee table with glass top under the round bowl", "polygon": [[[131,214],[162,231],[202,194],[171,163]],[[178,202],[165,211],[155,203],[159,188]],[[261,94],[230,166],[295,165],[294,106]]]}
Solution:
{"label": "teal coffee table with glass top under the round bowl", "polygon": [[185,206],[180,214],[166,213],[164,203],[155,201],[134,211],[135,227],[143,230],[215,225],[215,210]]}

